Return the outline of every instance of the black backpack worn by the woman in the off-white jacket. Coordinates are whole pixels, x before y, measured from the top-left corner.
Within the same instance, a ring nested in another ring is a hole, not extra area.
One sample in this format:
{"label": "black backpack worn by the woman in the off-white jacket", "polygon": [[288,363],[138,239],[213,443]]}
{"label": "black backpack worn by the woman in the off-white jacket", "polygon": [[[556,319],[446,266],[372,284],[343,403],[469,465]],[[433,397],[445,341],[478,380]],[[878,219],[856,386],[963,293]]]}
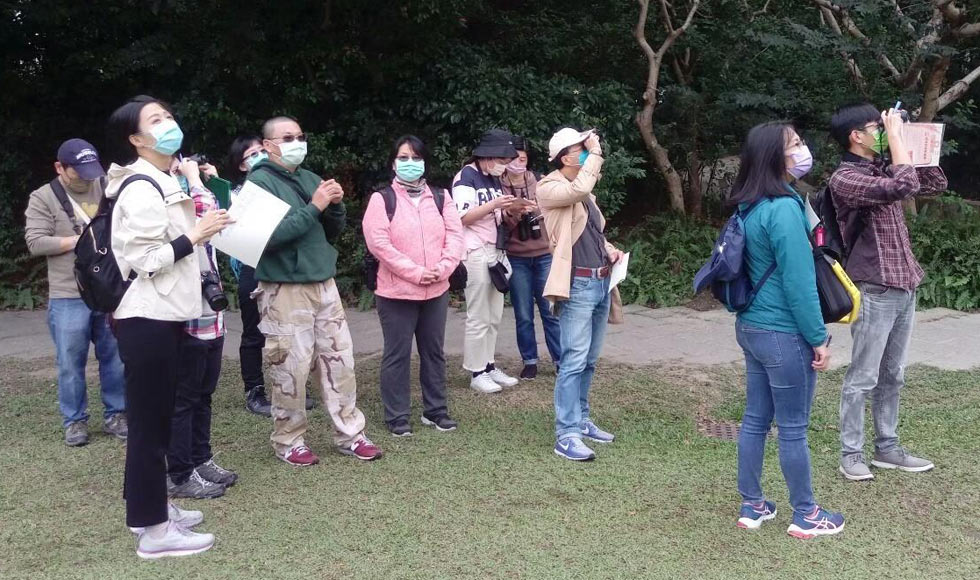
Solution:
{"label": "black backpack worn by the woman in the off-white jacket", "polygon": [[145,175],[127,177],[119,187],[116,199],[102,198],[98,212],[82,230],[75,245],[75,284],[85,305],[96,312],[113,312],[136,278],[136,273],[130,272],[129,279],[124,280],[112,254],[112,210],[126,186],[134,181],[150,182],[164,198],[163,189],[151,178]]}

